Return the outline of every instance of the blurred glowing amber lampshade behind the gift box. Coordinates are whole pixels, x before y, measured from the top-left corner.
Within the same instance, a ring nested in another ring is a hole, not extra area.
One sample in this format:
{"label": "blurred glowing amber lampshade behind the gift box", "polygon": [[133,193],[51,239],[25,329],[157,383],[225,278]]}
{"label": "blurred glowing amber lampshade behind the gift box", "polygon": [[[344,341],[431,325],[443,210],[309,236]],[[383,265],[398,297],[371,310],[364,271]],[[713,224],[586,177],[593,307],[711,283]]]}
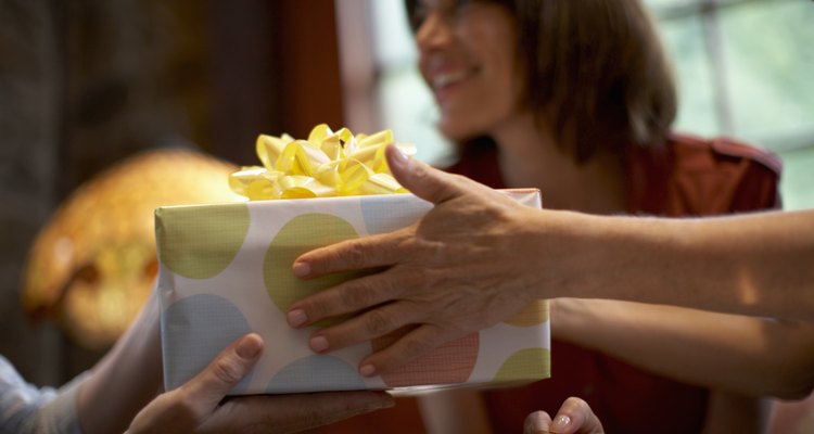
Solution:
{"label": "blurred glowing amber lampshade behind the gift box", "polygon": [[79,345],[102,349],[127,330],[157,275],[157,206],[245,200],[232,193],[237,167],[189,150],[136,155],[76,190],[31,247],[23,305]]}

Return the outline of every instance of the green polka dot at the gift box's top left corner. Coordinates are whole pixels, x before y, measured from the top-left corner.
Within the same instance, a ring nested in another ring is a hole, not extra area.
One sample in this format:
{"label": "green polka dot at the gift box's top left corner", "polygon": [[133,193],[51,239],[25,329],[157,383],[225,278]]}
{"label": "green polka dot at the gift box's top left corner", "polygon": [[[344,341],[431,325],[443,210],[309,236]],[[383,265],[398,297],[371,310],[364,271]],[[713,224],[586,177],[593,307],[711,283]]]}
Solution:
{"label": "green polka dot at the gift box's top left corner", "polygon": [[155,210],[158,259],[189,279],[217,276],[249,232],[245,204],[162,207]]}

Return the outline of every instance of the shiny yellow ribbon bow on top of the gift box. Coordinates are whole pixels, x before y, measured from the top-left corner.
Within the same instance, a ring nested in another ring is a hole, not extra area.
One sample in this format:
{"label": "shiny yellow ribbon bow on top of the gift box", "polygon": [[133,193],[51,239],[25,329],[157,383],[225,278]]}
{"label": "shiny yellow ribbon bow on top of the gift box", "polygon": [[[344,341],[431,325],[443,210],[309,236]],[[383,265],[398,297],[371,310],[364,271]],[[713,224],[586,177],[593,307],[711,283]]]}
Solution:
{"label": "shiny yellow ribbon bow on top of the gift box", "polygon": [[[250,201],[406,193],[384,159],[392,141],[389,129],[354,137],[326,124],[314,127],[308,140],[260,135],[256,148],[263,167],[242,167],[229,176],[229,186]],[[416,153],[412,145],[396,145]]]}

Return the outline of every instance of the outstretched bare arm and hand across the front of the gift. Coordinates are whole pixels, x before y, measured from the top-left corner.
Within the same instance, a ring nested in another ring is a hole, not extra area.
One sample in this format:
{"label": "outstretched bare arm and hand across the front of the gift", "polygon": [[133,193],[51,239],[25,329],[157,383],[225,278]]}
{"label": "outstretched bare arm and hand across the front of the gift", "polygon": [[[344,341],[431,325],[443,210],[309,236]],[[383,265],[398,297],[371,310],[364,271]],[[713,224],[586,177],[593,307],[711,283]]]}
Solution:
{"label": "outstretched bare arm and hand across the front of the gift", "polygon": [[[412,332],[361,361],[366,375],[489,327],[533,298],[615,298],[814,319],[814,209],[704,219],[599,217],[523,207],[387,148],[394,176],[435,206],[393,233],[297,258],[295,275],[382,268],[294,303],[292,327],[333,350]],[[371,308],[372,307],[372,308]]]}

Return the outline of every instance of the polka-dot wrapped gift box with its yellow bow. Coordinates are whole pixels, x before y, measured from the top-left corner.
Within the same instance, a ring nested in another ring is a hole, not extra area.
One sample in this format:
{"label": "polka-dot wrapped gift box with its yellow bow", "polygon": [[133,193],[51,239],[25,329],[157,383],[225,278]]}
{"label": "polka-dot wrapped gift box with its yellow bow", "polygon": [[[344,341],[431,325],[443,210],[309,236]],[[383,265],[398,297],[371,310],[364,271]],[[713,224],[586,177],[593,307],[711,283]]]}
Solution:
{"label": "polka-dot wrapped gift box with its yellow bow", "polygon": [[[497,290],[485,297],[485,304],[482,297],[473,297],[472,303],[462,301],[459,295],[466,291],[442,294],[446,299],[427,298],[429,309],[436,304],[449,305],[457,297],[462,311],[450,316],[447,309],[434,316],[442,319],[435,331],[443,332],[428,341],[436,342],[434,349],[425,346],[428,352],[412,362],[380,375],[359,372],[358,367],[371,352],[387,348],[399,339],[398,333],[385,333],[394,329],[363,337],[357,345],[346,342],[345,348],[331,354],[315,354],[308,346],[311,334],[343,318],[311,318],[297,329],[287,326],[297,299],[369,272],[336,272],[302,280],[291,266],[298,256],[338,242],[409,228],[432,208],[416,195],[393,194],[406,190],[390,174],[385,149],[396,149],[387,145],[391,140],[389,131],[354,137],[344,128],[333,132],[327,126],[318,126],[308,140],[302,141],[262,136],[257,153],[264,166],[244,168],[230,178],[232,188],[249,202],[156,210],[164,379],[168,390],[189,381],[220,348],[250,331],[274,343],[276,350],[264,354],[252,373],[229,392],[231,395],[517,384],[549,376],[546,302],[496,298]],[[431,190],[428,187],[427,191]],[[539,207],[536,190],[488,193],[497,194],[507,210]],[[466,205],[458,202],[451,202],[448,209]],[[475,206],[478,202],[470,204],[471,209]],[[488,233],[489,220],[495,217],[481,217],[482,252],[492,247],[493,239],[503,237]],[[425,235],[466,241],[446,232],[448,229],[428,231]],[[430,244],[419,246],[417,258],[424,260]],[[488,286],[473,285],[469,292],[480,293]],[[482,317],[482,309],[495,311],[489,319],[492,327],[466,322],[469,317]],[[512,317],[519,311],[517,318]]]}

